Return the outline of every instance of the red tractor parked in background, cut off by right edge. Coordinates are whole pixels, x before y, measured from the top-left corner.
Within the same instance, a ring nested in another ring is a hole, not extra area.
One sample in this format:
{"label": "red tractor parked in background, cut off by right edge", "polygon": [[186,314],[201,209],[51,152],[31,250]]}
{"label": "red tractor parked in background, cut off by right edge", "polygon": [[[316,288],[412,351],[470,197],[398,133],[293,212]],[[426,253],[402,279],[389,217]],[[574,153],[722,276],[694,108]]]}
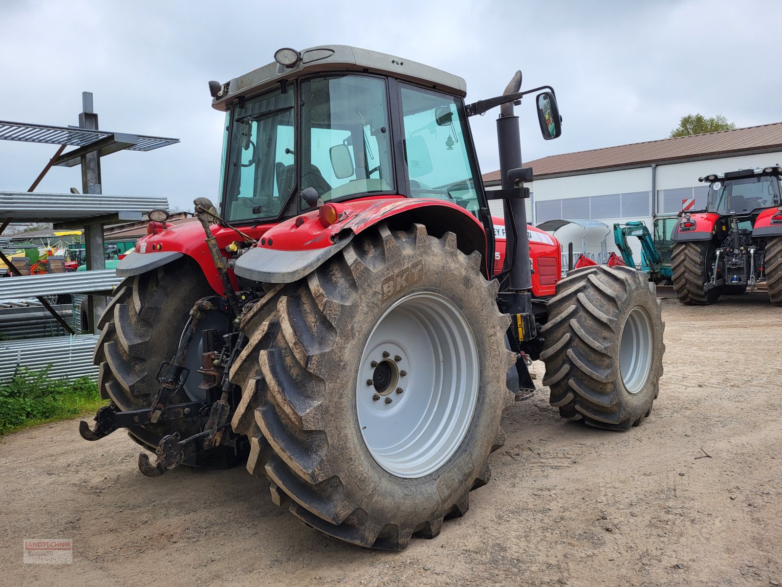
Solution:
{"label": "red tractor parked in background, cut off by right edge", "polygon": [[707,175],[706,209],[673,228],[673,289],[682,304],[713,304],[759,283],[782,306],[782,167]]}

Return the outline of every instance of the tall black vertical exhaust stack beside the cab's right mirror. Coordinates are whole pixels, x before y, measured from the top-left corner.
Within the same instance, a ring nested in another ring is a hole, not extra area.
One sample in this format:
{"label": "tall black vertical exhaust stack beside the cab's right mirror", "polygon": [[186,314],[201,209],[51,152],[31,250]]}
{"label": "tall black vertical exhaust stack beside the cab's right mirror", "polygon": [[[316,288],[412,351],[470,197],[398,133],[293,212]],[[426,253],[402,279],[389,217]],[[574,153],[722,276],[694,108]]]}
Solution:
{"label": "tall black vertical exhaust stack beside the cab's right mirror", "polygon": [[[503,95],[516,94],[522,87],[522,72],[517,71]],[[522,141],[518,130],[518,116],[513,113],[513,103],[500,106],[497,118],[497,147],[500,150],[500,177],[502,188],[514,187],[508,179],[508,171],[522,166]],[[529,235],[527,234],[527,211],[521,198],[503,200],[505,216],[505,263],[510,268],[508,289],[522,291],[532,289],[532,275],[529,272]]]}

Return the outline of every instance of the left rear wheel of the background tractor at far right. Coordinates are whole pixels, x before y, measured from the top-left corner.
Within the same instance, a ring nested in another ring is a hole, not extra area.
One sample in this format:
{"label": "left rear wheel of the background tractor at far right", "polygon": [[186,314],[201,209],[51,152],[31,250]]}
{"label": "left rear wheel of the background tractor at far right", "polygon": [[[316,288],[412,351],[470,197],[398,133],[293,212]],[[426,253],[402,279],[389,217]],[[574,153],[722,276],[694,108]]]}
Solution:
{"label": "left rear wheel of the background tractor at far right", "polygon": [[709,273],[712,271],[715,250],[714,243],[710,240],[673,244],[673,290],[682,304],[706,306],[717,301],[719,288],[708,292],[703,290],[703,286],[711,278]]}

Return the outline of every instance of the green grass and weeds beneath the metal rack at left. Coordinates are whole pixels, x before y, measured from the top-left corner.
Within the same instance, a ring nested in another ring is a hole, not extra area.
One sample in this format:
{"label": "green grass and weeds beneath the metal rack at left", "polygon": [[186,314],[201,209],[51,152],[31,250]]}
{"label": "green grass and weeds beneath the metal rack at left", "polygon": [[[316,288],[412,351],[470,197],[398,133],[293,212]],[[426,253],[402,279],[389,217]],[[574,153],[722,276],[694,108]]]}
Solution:
{"label": "green grass and weeds beneath the metal rack at left", "polygon": [[48,369],[21,370],[0,383],[0,436],[22,428],[95,412],[106,400],[89,377],[52,379]]}

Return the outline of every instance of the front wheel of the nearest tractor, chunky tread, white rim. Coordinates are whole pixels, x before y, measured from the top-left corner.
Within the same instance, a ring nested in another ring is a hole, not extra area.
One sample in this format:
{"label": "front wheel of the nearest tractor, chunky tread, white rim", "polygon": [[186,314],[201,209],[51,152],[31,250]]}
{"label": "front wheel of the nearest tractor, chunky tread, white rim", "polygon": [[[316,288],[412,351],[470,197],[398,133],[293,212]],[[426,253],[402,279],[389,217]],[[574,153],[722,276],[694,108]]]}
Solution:
{"label": "front wheel of the nearest tractor, chunky tread, white rim", "polygon": [[655,284],[629,267],[569,272],[549,301],[540,358],[551,405],[567,420],[627,430],[651,412],[662,376]]}

